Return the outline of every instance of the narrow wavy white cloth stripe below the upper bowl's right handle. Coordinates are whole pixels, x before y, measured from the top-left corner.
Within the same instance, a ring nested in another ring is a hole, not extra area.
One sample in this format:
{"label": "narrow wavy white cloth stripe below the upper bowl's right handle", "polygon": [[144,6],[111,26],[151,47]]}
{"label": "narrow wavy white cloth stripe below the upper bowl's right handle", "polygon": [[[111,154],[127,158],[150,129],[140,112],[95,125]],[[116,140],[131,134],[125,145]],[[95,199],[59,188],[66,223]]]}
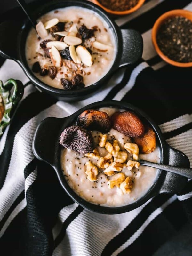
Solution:
{"label": "narrow wavy white cloth stripe below the upper bowl's right handle", "polygon": [[113,100],[121,100],[123,99],[123,97],[125,96],[125,94],[127,92],[129,92],[133,86],[135,85],[135,81],[137,76],[139,75],[139,73],[147,68],[149,65],[146,62],[142,62],[140,63],[136,68],[133,69],[130,79],[128,81],[128,83],[125,85],[125,87],[123,87],[117,94],[116,96],[113,98]]}

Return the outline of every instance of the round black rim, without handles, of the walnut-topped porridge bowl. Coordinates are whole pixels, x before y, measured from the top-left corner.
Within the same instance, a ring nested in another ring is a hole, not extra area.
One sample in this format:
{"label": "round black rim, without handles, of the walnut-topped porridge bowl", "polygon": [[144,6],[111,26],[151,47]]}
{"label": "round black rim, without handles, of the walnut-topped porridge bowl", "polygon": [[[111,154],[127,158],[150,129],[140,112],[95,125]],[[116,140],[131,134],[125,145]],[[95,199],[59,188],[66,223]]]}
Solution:
{"label": "round black rim, without handles, of the walnut-topped porridge bowl", "polygon": [[[65,124],[62,125],[62,128],[59,131],[58,135],[58,141],[59,141],[59,136],[61,132],[63,131],[64,128],[73,125],[74,122],[77,119],[77,116],[79,116],[84,110],[86,109],[98,109],[98,108],[103,108],[103,107],[118,107],[121,109],[125,110],[131,110],[135,112],[141,119],[146,120],[151,127],[154,129],[156,133],[156,139],[157,139],[157,145],[159,147],[159,152],[160,152],[160,163],[164,162],[164,148],[166,147],[166,143],[163,139],[162,133],[159,129],[159,127],[156,125],[156,123],[141,109],[134,107],[131,104],[128,103],[122,103],[120,101],[99,101],[96,103],[92,103],[80,110],[78,110],[76,113],[72,114],[71,116],[66,117]],[[162,172],[160,169],[158,170],[158,173],[156,175],[156,179],[154,180],[153,185],[149,188],[149,190],[141,196],[138,200],[136,200],[134,203],[127,204],[124,206],[117,206],[117,207],[110,207],[110,206],[100,206],[96,204],[92,204],[80,196],[78,196],[75,191],[70,188],[69,184],[67,183],[67,180],[65,179],[62,169],[61,169],[61,164],[60,164],[60,156],[61,156],[61,150],[63,147],[59,146],[58,151],[57,151],[57,160],[56,164],[53,165],[53,168],[55,169],[57,176],[60,180],[60,183],[62,187],[65,189],[67,194],[79,205],[81,205],[83,208],[87,210],[91,210],[93,212],[97,213],[102,213],[102,214],[120,214],[120,213],[125,213],[129,212],[142,204],[146,203],[151,197],[155,196],[158,194],[159,188],[162,186],[164,177],[165,177],[165,172]]]}

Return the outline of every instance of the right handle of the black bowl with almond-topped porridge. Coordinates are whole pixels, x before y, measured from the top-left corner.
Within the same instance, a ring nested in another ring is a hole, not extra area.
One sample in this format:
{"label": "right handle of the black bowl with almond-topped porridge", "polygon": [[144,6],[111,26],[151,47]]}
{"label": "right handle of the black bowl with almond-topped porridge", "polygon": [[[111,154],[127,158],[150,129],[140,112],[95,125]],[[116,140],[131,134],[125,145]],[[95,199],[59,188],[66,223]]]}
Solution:
{"label": "right handle of the black bowl with almond-topped porridge", "polygon": [[121,29],[123,52],[119,68],[132,65],[142,57],[143,38],[134,29]]}

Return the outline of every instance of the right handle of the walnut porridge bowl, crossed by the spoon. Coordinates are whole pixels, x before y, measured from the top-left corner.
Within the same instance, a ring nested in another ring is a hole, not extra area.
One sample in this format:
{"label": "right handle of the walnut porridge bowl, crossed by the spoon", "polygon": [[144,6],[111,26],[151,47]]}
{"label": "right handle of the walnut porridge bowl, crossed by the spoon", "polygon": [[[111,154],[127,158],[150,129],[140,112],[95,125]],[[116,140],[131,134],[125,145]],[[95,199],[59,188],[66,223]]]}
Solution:
{"label": "right handle of the walnut porridge bowl, crossed by the spoon", "polygon": [[[188,157],[179,150],[170,147],[167,144],[169,165],[190,168]],[[188,178],[172,172],[166,172],[163,186],[159,193],[178,193],[187,184]]]}

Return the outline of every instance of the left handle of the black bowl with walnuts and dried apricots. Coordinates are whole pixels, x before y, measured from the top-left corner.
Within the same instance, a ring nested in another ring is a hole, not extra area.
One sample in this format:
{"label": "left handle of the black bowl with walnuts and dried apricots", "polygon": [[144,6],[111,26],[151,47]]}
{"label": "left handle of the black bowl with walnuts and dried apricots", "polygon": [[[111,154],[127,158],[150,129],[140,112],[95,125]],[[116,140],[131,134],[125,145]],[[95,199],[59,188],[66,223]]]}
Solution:
{"label": "left handle of the black bowl with walnuts and dried apricots", "polygon": [[58,134],[66,119],[48,117],[38,125],[32,146],[37,159],[54,166],[60,147]]}

